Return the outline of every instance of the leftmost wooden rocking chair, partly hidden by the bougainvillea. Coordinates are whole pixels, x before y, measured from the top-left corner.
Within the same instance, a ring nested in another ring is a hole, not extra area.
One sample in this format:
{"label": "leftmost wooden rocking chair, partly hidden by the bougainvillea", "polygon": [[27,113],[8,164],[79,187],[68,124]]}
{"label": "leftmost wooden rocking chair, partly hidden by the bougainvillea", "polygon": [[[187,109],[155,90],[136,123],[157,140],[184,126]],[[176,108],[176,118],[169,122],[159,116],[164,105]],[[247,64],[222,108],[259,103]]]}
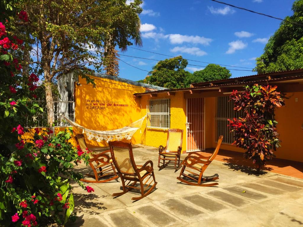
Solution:
{"label": "leftmost wooden rocking chair, partly hidden by the bougainvillea", "polygon": [[[86,143],[83,134],[75,135],[75,140],[80,146],[80,148],[85,151],[86,150]],[[113,164],[111,156],[109,156],[109,150],[105,150],[98,154],[93,154],[92,158],[89,159],[89,165],[92,167],[94,175],[92,174],[85,174],[85,176],[89,176],[95,178],[95,180],[88,180],[88,179],[80,179],[83,182],[87,183],[104,183],[114,179],[117,179],[119,176],[115,170],[115,166]]]}

